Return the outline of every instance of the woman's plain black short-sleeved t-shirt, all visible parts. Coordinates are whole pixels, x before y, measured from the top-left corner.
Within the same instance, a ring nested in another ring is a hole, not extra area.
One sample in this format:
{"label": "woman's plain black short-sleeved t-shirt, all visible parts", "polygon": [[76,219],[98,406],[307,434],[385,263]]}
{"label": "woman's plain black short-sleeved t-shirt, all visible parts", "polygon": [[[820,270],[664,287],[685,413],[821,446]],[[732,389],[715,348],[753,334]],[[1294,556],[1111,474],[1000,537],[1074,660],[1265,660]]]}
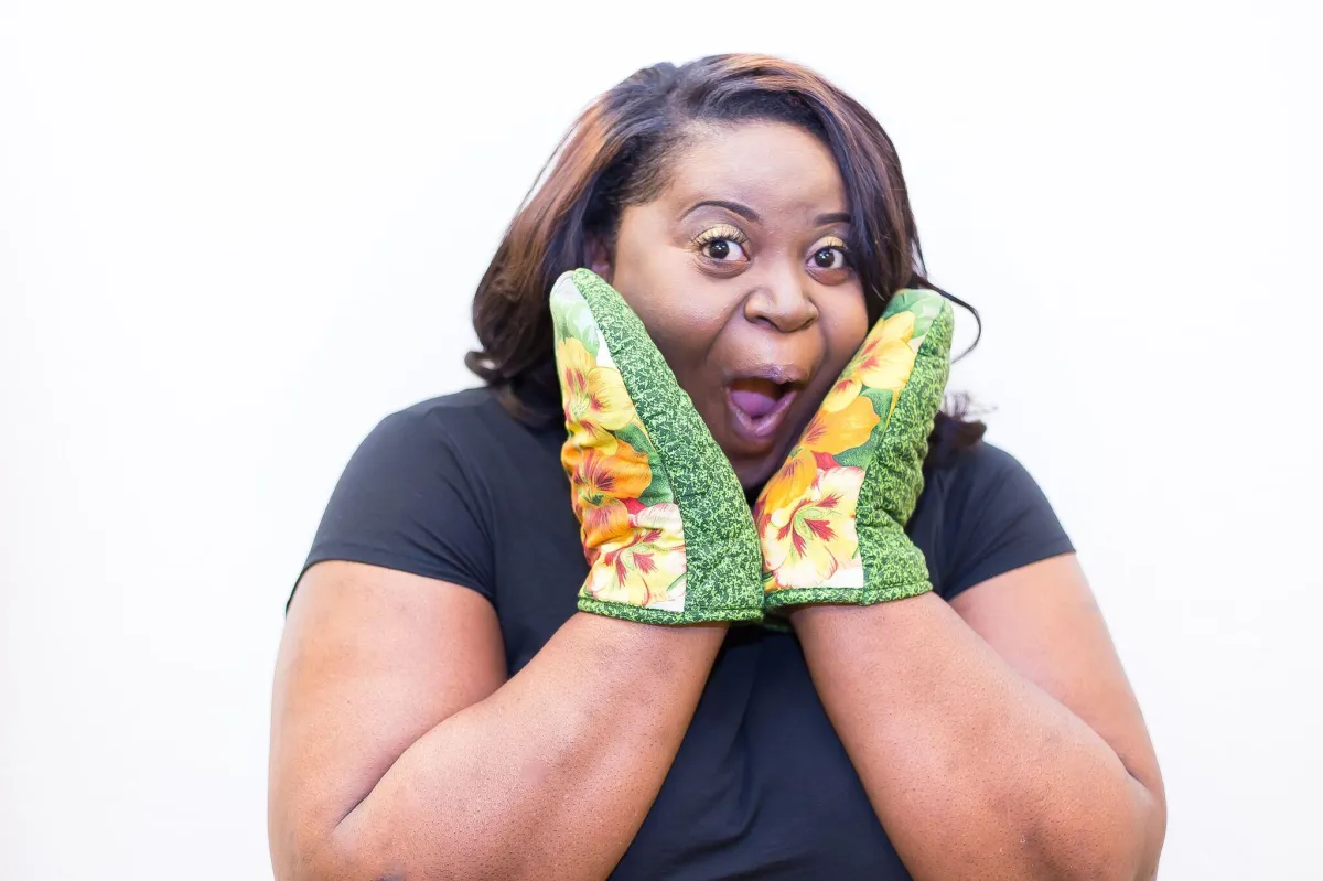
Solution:
{"label": "woman's plain black short-sleeved t-shirt, all visible parts", "polygon": [[[386,417],[327,505],[307,565],[351,560],[476,590],[509,673],[576,611],[587,574],[562,426],[486,389]],[[909,524],[937,593],[1072,550],[1029,474],[987,443],[925,471]],[[792,743],[794,749],[785,745]],[[732,627],[652,810],[613,878],[909,878],[792,634]]]}

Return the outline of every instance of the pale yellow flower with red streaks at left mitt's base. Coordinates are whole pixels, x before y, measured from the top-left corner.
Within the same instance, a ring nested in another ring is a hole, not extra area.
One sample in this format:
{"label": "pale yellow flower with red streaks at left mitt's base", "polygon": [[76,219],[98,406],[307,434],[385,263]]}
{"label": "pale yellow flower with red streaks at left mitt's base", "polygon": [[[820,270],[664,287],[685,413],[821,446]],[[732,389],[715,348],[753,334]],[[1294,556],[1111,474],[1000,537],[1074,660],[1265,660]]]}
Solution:
{"label": "pale yellow flower with red streaks at left mitt's base", "polygon": [[684,525],[680,508],[659,503],[630,516],[619,540],[598,548],[583,591],[605,602],[684,608]]}

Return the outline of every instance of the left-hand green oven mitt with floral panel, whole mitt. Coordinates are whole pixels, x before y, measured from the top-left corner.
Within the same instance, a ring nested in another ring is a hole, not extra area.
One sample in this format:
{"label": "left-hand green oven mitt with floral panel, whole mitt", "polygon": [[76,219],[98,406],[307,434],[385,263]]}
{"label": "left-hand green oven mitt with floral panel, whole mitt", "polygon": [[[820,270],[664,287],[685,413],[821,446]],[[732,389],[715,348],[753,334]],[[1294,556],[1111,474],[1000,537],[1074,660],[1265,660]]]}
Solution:
{"label": "left-hand green oven mitt with floral panel, whole mitt", "polygon": [[762,557],[730,462],[624,299],[586,269],[552,288],[561,463],[589,575],[578,607],[654,624],[762,619]]}

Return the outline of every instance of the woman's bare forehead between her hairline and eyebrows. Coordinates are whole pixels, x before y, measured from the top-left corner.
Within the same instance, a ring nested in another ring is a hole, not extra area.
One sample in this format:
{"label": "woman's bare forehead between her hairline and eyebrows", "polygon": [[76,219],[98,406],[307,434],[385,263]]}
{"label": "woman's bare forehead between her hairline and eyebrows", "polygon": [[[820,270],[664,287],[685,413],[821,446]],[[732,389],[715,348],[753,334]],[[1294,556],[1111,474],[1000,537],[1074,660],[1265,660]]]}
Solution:
{"label": "woman's bare forehead between her hairline and eyebrows", "polygon": [[732,198],[759,214],[844,212],[845,183],[827,146],[775,122],[701,126],[671,159],[663,200]]}

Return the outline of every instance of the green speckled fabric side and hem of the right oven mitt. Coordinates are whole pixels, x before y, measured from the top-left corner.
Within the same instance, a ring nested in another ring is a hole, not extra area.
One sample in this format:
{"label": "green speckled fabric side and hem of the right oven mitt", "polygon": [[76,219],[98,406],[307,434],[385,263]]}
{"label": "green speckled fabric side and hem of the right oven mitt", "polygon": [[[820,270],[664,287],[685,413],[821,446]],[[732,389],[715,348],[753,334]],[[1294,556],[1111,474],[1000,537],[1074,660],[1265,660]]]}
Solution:
{"label": "green speckled fabric side and hem of the right oven mitt", "polygon": [[905,534],[905,524],[923,489],[927,438],[942,406],[950,376],[955,317],[935,291],[897,292],[884,320],[901,311],[916,315],[914,337],[922,344],[910,378],[885,425],[875,429],[875,454],[859,491],[855,528],[864,564],[863,587],[792,587],[769,593],[767,622],[774,610],[803,603],[873,605],[914,597],[933,589],[923,553]]}

